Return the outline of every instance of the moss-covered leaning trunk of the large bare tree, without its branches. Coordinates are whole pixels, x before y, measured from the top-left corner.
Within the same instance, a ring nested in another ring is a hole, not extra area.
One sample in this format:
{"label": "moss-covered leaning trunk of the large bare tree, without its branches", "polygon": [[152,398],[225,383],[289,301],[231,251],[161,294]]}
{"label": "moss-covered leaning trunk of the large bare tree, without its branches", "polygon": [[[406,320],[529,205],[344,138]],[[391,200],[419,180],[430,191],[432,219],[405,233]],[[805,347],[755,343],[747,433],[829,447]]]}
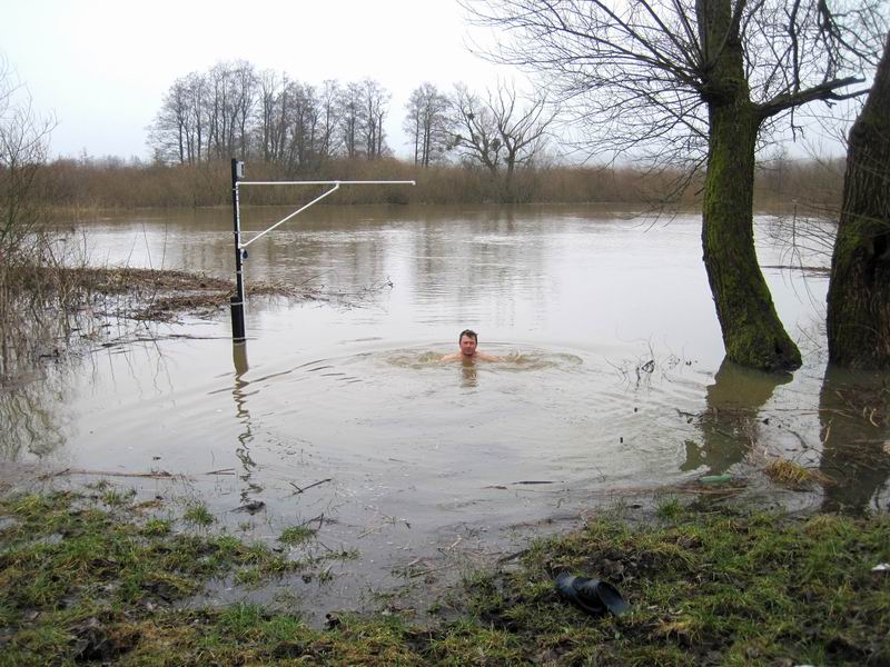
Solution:
{"label": "moss-covered leaning trunk of the large bare tree, without its branches", "polygon": [[742,366],[792,370],[800,351],[779,320],[754,251],[754,147],[762,118],[744,74],[739,19],[725,0],[700,2],[699,12],[702,49],[714,62],[702,92],[710,116],[702,247],[723,345]]}

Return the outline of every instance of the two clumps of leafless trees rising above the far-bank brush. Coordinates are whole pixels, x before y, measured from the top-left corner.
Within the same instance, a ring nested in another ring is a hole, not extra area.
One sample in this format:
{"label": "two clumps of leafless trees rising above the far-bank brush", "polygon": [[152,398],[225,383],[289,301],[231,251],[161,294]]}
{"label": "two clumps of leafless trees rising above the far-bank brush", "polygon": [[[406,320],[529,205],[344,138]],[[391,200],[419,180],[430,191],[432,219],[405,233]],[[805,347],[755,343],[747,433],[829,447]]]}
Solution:
{"label": "two clumps of leafless trees rising above the far-bank brush", "polygon": [[[148,128],[152,160],[198,165],[239,157],[288,173],[315,172],[334,159],[392,157],[384,130],[392,94],[372,78],[320,84],[246,60],[218,62],[178,78]],[[405,106],[403,128],[419,167],[456,160],[510,178],[534,163],[555,112],[542,96],[521,99],[498,82],[481,94],[423,82]]]}

